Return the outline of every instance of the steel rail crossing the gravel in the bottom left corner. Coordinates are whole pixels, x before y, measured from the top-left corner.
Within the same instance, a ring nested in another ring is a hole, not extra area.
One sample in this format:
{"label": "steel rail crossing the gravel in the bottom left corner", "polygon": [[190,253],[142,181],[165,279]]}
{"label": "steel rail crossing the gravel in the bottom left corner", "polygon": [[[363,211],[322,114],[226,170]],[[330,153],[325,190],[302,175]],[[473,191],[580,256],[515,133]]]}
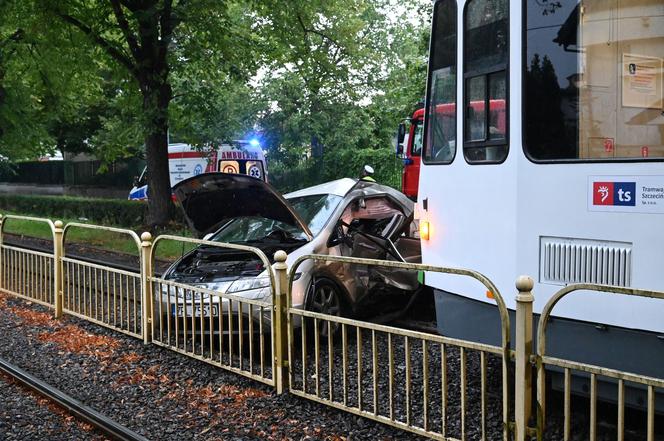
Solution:
{"label": "steel rail crossing the gravel in the bottom left corner", "polygon": [[18,383],[57,403],[76,418],[91,424],[112,439],[119,441],[148,441],[144,436],[120,425],[107,416],[102,415],[91,407],[86,406],[75,398],[55,389],[49,384],[1,358],[0,371],[16,380]]}

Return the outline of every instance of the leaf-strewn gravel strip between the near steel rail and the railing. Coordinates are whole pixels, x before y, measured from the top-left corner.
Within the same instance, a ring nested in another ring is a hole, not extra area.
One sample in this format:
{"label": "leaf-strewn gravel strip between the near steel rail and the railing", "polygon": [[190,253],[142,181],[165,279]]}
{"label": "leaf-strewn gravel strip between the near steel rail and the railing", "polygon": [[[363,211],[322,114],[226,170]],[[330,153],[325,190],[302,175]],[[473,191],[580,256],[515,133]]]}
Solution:
{"label": "leaf-strewn gravel strip between the near steel rail and the railing", "polygon": [[0,357],[149,439],[422,439],[5,294],[0,339]]}

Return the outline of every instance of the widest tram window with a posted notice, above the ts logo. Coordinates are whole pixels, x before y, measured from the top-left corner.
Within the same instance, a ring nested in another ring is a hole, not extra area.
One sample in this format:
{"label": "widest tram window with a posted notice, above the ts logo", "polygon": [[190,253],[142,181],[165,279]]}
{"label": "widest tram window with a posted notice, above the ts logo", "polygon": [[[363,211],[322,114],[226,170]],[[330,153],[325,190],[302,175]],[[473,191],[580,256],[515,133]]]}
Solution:
{"label": "widest tram window with a posted notice, above the ts logo", "polygon": [[664,3],[529,0],[524,41],[529,157],[664,158]]}

